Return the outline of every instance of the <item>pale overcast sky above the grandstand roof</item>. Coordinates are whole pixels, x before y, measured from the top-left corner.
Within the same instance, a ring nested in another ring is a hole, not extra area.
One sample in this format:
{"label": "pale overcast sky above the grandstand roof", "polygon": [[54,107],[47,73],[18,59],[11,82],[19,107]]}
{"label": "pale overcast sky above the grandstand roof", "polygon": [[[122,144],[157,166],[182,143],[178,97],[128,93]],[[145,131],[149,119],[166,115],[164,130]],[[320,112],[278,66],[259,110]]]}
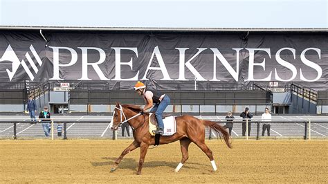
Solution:
{"label": "pale overcast sky above the grandstand roof", "polygon": [[0,0],[1,26],[327,28],[328,0]]}

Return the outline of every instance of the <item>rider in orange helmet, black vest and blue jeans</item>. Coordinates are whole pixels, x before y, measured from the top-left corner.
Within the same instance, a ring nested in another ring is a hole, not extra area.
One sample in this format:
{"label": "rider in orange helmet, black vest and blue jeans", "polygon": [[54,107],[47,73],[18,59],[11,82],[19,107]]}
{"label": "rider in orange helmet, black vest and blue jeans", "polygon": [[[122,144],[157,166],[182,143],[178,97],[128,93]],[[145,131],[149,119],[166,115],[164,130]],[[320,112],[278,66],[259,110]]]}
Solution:
{"label": "rider in orange helmet, black vest and blue jeans", "polygon": [[143,107],[143,111],[150,109],[154,105],[150,112],[155,113],[158,122],[158,129],[155,131],[155,134],[163,134],[164,124],[162,114],[167,105],[170,104],[169,96],[152,89],[146,89],[143,82],[137,82],[134,86],[134,90],[137,91],[139,95],[142,95],[146,102],[145,107]]}

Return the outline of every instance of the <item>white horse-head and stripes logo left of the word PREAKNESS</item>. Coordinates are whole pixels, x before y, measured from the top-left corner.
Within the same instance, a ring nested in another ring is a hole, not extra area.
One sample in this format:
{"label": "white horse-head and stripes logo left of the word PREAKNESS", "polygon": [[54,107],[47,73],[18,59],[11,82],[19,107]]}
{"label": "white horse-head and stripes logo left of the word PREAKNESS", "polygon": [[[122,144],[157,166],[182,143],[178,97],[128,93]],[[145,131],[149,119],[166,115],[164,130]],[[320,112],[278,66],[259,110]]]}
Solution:
{"label": "white horse-head and stripes logo left of the word PREAKNESS", "polygon": [[[32,52],[34,58],[37,60],[37,64],[39,64],[39,66],[41,66],[42,65],[42,60],[40,59],[39,55],[37,55],[37,51],[35,51],[35,49],[32,45],[30,45],[30,51]],[[8,45],[5,53],[3,53],[2,57],[0,58],[0,62],[3,62],[3,61],[12,62],[12,71],[10,71],[9,69],[6,69],[10,81],[12,80],[12,77],[14,77],[14,75],[15,75],[15,73],[16,73],[16,71],[17,71],[17,69],[19,68],[20,65],[23,66],[24,70],[28,74],[28,77],[30,77],[31,81],[34,80],[34,75],[30,71],[30,68],[28,68],[28,64],[30,66],[32,66],[33,71],[35,73],[37,73],[39,71],[39,69],[37,68],[37,66],[33,62],[32,57],[30,57],[29,53],[26,53],[25,58],[21,59],[21,61],[19,61],[17,55],[15,54],[14,50],[12,50],[12,47],[10,45]],[[26,64],[26,61],[27,61],[28,64]]]}

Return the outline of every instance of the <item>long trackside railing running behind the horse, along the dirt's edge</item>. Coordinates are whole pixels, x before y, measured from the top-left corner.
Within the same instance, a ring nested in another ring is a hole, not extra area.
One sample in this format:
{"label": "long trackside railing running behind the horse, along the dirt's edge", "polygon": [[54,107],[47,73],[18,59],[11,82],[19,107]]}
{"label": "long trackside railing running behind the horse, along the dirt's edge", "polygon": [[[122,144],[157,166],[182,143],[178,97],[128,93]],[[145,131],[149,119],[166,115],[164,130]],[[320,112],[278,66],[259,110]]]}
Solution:
{"label": "long trackside railing running behind the horse, along the dirt's edge", "polygon": [[[207,119],[214,120],[221,125],[226,123],[224,119]],[[95,139],[113,139],[127,138],[120,136],[122,133],[121,129],[118,131],[111,131],[109,129],[110,119],[106,120],[60,120],[51,119],[49,122],[33,122],[27,120],[1,120],[0,121],[0,139],[79,139],[79,138],[95,138]],[[51,130],[48,132],[51,136],[44,136],[42,129],[43,123],[49,123]],[[55,136],[57,130],[55,125],[60,123],[63,125],[62,136]],[[263,125],[270,123],[271,134],[264,136],[263,133],[268,133],[267,129],[263,132]],[[233,121],[233,127],[231,128],[231,135],[233,138],[242,139],[306,139],[311,140],[312,138],[327,138],[327,125],[328,121],[271,121],[262,122],[261,120],[235,120]],[[248,130],[250,134],[248,135]],[[131,134],[131,129],[129,129]],[[228,127],[227,127],[228,131]],[[244,136],[242,135],[244,132]],[[262,132],[262,134],[261,134]],[[133,136],[129,136],[133,138]],[[219,138],[215,131],[212,129],[206,129],[206,138],[213,139]]]}

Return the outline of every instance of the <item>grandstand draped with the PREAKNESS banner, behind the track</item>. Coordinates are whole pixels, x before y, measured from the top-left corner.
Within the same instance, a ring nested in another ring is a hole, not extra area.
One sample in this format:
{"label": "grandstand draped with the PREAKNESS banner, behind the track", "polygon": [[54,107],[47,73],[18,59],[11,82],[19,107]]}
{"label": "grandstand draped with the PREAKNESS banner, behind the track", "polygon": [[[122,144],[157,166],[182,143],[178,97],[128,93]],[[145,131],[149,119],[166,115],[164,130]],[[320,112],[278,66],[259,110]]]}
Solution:
{"label": "grandstand draped with the PREAKNESS banner, behind the track", "polygon": [[48,105],[56,118],[110,119],[116,102],[144,103],[132,90],[137,80],[170,96],[167,114],[219,122],[227,111],[238,116],[249,107],[260,116],[268,107],[277,121],[302,124],[302,115],[316,121],[328,113],[325,29],[1,26],[0,35],[3,118],[26,115],[32,95],[37,111]]}

